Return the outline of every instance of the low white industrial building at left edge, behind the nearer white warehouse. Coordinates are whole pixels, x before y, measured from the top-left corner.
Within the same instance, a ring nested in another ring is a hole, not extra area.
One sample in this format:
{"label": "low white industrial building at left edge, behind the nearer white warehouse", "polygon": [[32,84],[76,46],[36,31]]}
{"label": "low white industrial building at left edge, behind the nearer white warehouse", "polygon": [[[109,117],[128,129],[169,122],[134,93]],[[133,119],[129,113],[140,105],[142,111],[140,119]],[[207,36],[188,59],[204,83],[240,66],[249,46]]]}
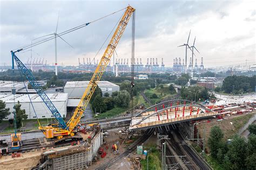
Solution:
{"label": "low white industrial building at left edge, behind the nearer white warehouse", "polygon": [[[25,82],[25,86],[28,87],[28,83]],[[23,82],[0,80],[0,94],[11,94],[13,88],[18,92],[24,90],[25,86]]]}

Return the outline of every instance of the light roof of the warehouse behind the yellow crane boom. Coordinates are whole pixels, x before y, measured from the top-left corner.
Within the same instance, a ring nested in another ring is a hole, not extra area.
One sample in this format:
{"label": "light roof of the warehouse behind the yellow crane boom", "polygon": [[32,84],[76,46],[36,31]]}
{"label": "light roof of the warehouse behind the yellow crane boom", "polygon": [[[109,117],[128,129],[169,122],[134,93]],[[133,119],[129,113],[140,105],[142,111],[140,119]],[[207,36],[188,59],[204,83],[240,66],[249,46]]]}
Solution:
{"label": "light roof of the warehouse behind the yellow crane boom", "polygon": [[[64,88],[75,88],[75,87],[86,87],[89,84],[89,81],[67,81]],[[116,84],[113,84],[109,81],[99,81],[98,83],[99,87],[104,86],[118,86]]]}

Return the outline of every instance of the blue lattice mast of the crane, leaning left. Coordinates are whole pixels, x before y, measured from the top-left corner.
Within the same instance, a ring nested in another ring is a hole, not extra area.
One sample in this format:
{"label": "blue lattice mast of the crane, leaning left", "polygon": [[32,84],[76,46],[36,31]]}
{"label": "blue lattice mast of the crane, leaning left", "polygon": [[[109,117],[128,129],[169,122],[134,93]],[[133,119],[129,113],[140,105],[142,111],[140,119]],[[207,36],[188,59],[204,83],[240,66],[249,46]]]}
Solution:
{"label": "blue lattice mast of the crane, leaning left", "polygon": [[49,97],[46,95],[42,87],[38,84],[37,80],[35,77],[33,77],[32,73],[26,68],[26,66],[19,60],[19,58],[15,55],[15,52],[11,51],[12,55],[12,69],[14,69],[14,60],[17,64],[18,70],[28,79],[29,83],[33,87],[33,89],[36,90],[37,94],[41,97],[41,99],[44,101],[45,105],[49,108],[51,111],[52,115],[56,118],[58,121],[59,127],[63,129],[68,129],[66,126],[62,116],[60,115],[59,111],[57,108],[52,104],[51,100]]}

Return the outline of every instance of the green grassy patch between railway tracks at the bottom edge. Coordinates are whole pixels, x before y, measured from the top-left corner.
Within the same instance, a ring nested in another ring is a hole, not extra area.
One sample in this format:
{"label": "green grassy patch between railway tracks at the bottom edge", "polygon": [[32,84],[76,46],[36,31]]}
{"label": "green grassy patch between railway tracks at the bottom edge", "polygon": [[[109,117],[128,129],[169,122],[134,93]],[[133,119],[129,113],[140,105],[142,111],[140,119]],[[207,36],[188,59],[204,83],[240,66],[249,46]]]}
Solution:
{"label": "green grassy patch between railway tracks at the bottom edge", "polygon": [[[160,170],[161,169],[161,159],[160,159],[160,151],[156,148],[156,145],[146,145],[143,150],[151,151],[147,152],[149,157],[149,169],[153,170]],[[140,161],[140,164],[142,165],[142,169],[147,169],[147,159]]]}

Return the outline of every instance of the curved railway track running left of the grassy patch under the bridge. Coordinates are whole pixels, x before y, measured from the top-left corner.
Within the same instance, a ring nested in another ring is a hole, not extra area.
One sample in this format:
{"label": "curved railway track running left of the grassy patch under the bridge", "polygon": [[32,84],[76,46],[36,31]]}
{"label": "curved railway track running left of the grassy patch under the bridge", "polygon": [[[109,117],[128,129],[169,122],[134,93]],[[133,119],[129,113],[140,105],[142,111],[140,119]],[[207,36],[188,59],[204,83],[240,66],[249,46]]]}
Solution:
{"label": "curved railway track running left of the grassy patch under the bridge", "polygon": [[142,144],[143,142],[145,142],[147,139],[150,138],[150,136],[153,133],[153,128],[147,130],[142,137],[140,137],[138,140],[136,140],[135,142],[133,142],[132,145],[130,145],[130,147],[123,153],[119,154],[117,157],[115,157],[114,159],[112,159],[110,162],[107,162],[103,165],[100,165],[99,167],[96,168],[96,170],[103,170],[106,169],[110,166],[112,166],[113,164],[115,164],[117,161],[119,161],[120,159],[126,157],[129,153],[131,153],[132,151],[134,151],[134,149],[137,148],[137,145]]}

